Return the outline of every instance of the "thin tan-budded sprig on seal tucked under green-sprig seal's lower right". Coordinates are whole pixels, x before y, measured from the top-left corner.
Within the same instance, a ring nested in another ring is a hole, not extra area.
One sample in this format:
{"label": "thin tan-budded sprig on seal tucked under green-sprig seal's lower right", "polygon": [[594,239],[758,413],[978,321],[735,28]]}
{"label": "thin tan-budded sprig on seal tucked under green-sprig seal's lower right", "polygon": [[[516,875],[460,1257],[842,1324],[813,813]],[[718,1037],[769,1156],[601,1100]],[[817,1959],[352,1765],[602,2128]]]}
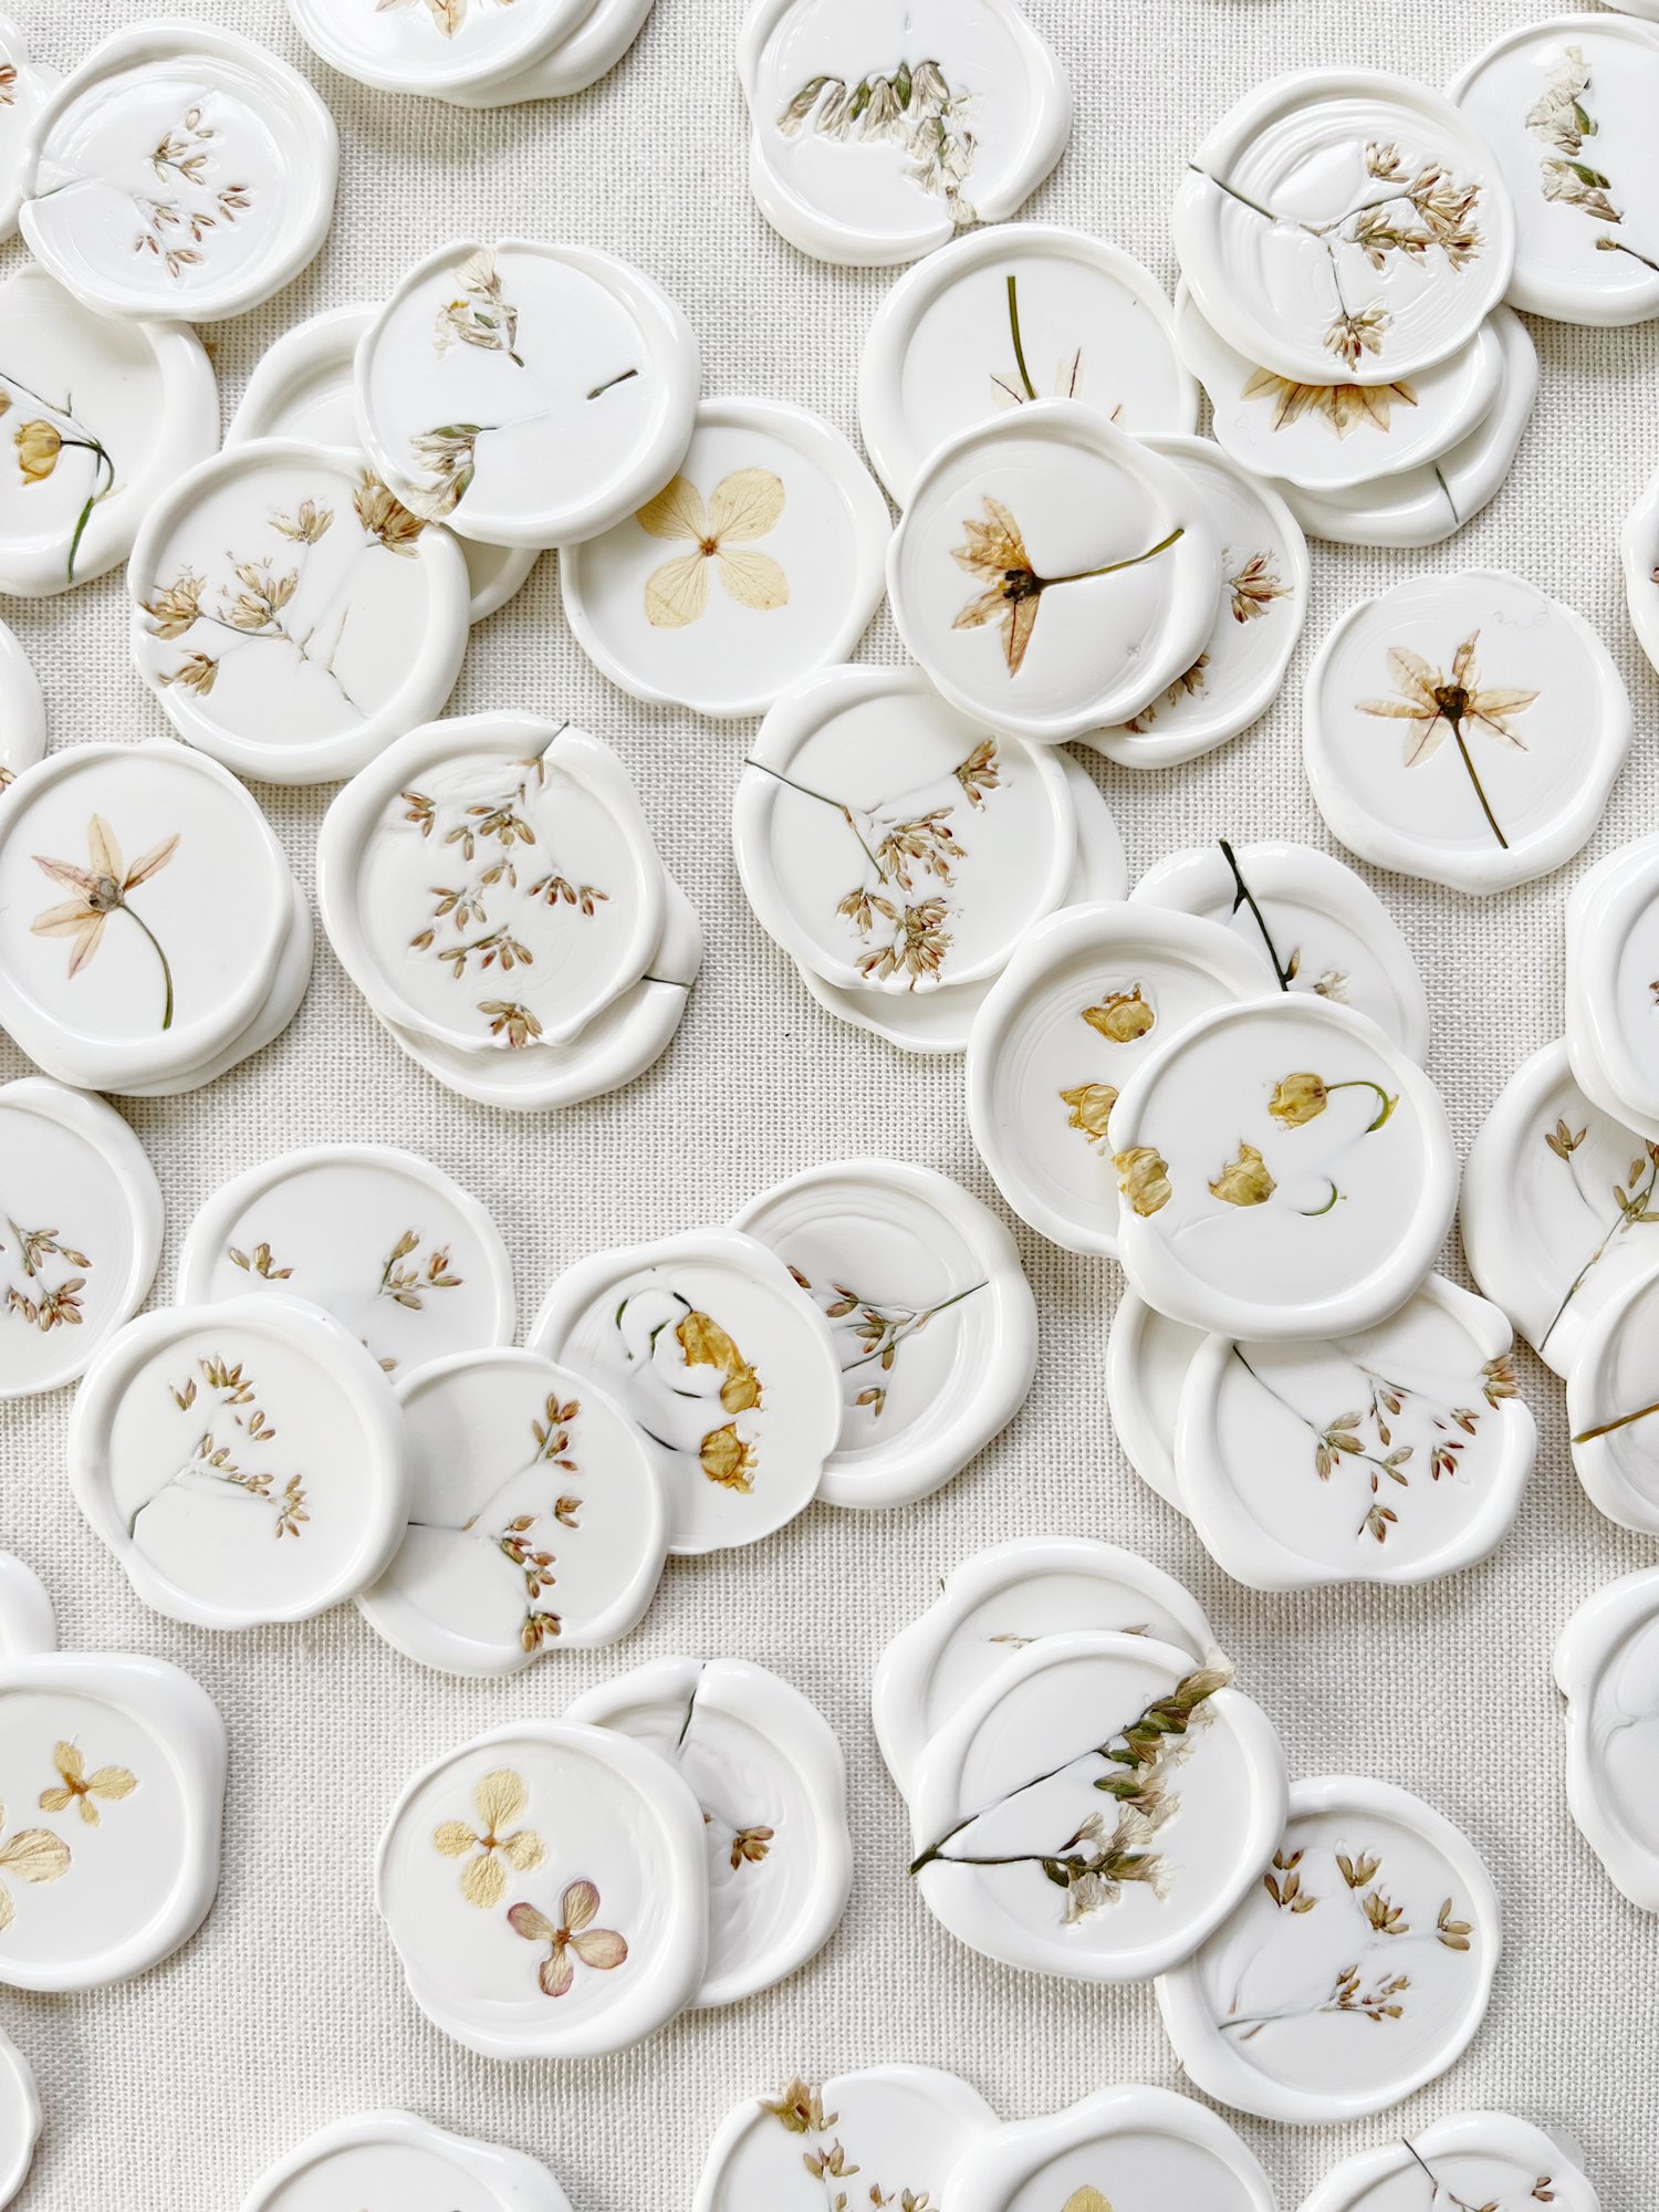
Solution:
{"label": "thin tan-budded sprig on seal tucked under green-sprig seal's lower right", "polygon": [[1237,2035],[1241,2044],[1252,2042],[1263,2028],[1285,2020],[1318,2020],[1325,2015],[1369,2020],[1374,2026],[1405,2020],[1409,2008],[1411,1975],[1400,1966],[1400,1958],[1418,1942],[1433,1942],[1442,1951],[1469,1953],[1473,1949],[1473,1924],[1458,1918],[1455,1900],[1444,1898],[1431,1927],[1418,1927],[1418,1907],[1400,1902],[1383,1885],[1383,1854],[1376,1849],[1318,1854],[1321,1867],[1329,1858],[1336,1874],[1334,1889],[1312,1889],[1314,1865],[1307,1851],[1274,1854],[1274,1863],[1263,1876],[1263,1889],[1272,1898],[1276,1916],[1292,1920],[1303,1913],[1347,1911],[1358,1918],[1356,1951],[1349,1964],[1336,1966],[1329,1986],[1312,2000],[1294,2000],[1272,2011],[1241,2011],[1239,2000],[1225,2020],[1219,2022],[1223,2035]]}

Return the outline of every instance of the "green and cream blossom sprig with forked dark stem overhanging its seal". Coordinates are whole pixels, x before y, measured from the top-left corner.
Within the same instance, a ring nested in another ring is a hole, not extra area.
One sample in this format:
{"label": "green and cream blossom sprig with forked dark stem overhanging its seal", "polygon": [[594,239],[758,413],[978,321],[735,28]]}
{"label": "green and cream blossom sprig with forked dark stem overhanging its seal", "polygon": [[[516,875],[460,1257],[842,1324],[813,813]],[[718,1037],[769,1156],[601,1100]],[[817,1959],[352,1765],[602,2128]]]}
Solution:
{"label": "green and cream blossom sprig with forked dark stem overhanging its seal", "polygon": [[1106,1774],[1095,1778],[1093,1787],[1113,1801],[1113,1814],[1091,1812],[1055,1849],[951,1851],[949,1845],[982,1818],[982,1814],[969,1814],[911,1860],[909,1871],[922,1874],[927,1867],[1037,1867],[1055,1889],[1066,1891],[1068,1922],[1088,1920],[1115,1905],[1130,1882],[1144,1882],[1159,1898],[1168,1896],[1175,1869],[1152,1849],[1152,1838],[1181,1809],[1179,1792],[1172,1787],[1175,1770],[1192,1750],[1192,1732],[1208,1723],[1210,1699],[1230,1681],[1232,1670],[1225,1666],[1199,1668],[1179,1681],[1168,1697],[1155,1699],[1133,1721],[1106,1736],[1104,1743],[1075,1752],[1057,1767],[1033,1774],[1018,1790],[1009,1790],[1000,1807],[1084,1761],[1106,1761]]}

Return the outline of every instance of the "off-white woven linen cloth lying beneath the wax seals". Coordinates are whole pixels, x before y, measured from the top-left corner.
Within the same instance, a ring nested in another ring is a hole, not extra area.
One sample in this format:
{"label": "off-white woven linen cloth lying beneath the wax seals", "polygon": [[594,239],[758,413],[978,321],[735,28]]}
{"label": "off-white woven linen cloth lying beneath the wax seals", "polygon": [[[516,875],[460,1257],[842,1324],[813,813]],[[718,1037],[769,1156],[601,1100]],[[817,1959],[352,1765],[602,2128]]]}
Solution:
{"label": "off-white woven linen cloth lying beneath the wax seals", "polygon": [[[345,0],[341,0],[345,4]],[[137,22],[142,0],[9,0],[60,69]],[[1544,0],[1026,0],[1077,93],[1060,170],[1026,215],[1115,239],[1175,283],[1168,206],[1199,135],[1265,77],[1301,66],[1398,69],[1429,84]],[[321,307],[380,299],[458,234],[613,248],[655,276],[703,343],[710,394],[818,409],[856,438],[854,376],[891,281],[803,259],[745,181],[732,53],[741,0],[657,0],[626,62],[591,93],[493,115],[365,91],[316,62],[279,0],[173,0],[296,62],[334,108],[341,197],[323,254],[288,292],[215,336],[226,418],[261,349]],[[0,270],[22,250],[0,250]],[[1537,414],[1495,504],[1427,553],[1314,542],[1305,639],[1272,712],[1188,768],[1095,763],[1133,874],[1217,834],[1332,847],[1301,765],[1301,686],[1354,599],[1422,571],[1515,568],[1577,606],[1637,708],[1630,765],[1588,849],[1544,883],[1471,900],[1363,869],[1400,920],[1433,1004],[1429,1068],[1460,1150],[1511,1068],[1562,1029],[1562,911],[1577,876],[1655,821],[1659,681],[1619,588],[1619,522],[1659,465],[1659,325],[1531,323]],[[4,604],[46,688],[51,743],[166,734],[126,646],[122,577]],[[863,659],[900,657],[883,613]],[[208,1091],[124,1110],[168,1203],[157,1301],[179,1234],[228,1175],[296,1144],[409,1146],[484,1199],[513,1254],[520,1310],[575,1256],[723,1221],[752,1192],[856,1152],[922,1161],[1000,1206],[969,1139],[960,1060],[911,1060],[838,1026],[748,911],[730,799],[748,726],[641,708],[582,657],[555,557],[473,633],[451,712],[571,714],[617,748],[668,867],[708,933],[677,1044],[617,1097],[518,1119],[405,1062],[325,942],[288,1035]],[[327,790],[263,787],[310,887]],[[206,922],[206,916],[204,916]],[[0,1077],[24,1073],[0,1042]],[[1604,1582],[1659,1562],[1608,1526],[1566,1453],[1562,1385],[1524,1354],[1540,1420],[1520,1524],[1484,1566],[1420,1590],[1252,1595],[1141,1486],[1110,1429],[1104,1345],[1117,1267],[1020,1228],[1040,1305],[1031,1400],[953,1484],[896,1513],[814,1506],[752,1551],[670,1562],[644,1626],[604,1652],[555,1652],[511,1683],[425,1672],[341,1608],[299,1630],[215,1637],[148,1613],[64,1482],[69,1391],[0,1409],[0,1542],[46,1579],[69,1650],[155,1652],[188,1668],[230,1730],[223,1880],[206,1929],[122,1989],[4,1993],[0,2024],[40,2077],[46,2132],[27,2212],[228,2212],[290,2143],[352,2110],[407,2106],[542,2157],[575,2212],[686,2212],[723,2112],[794,2070],[883,2059],[945,2066],[1004,2117],[1051,2112],[1110,2081],[1183,2088],[1150,1986],[1011,1973],[962,1949],[905,1880],[907,1829],[869,1730],[887,1639],[984,1544],[1088,1533],[1146,1553],[1208,1606],[1239,1681],[1279,1723],[1292,1774],[1376,1774],[1420,1792],[1475,1840],[1504,1902],[1498,1991],[1471,2053],[1407,2106],[1352,2128],[1237,2124],[1283,2208],[1367,2143],[1469,2108],[1571,2130],[1606,2212],[1659,2199],[1659,1922],[1610,1887],[1566,1814],[1551,1648]],[[1442,1265],[1467,1281],[1462,1252]],[[692,2013],[608,2062],[504,2066],[447,2042],[405,1993],[372,1900],[372,1858],[405,1778],[467,1736],[666,1652],[776,1668],[847,1752],[856,1878],[845,1924],[803,1973],[734,2011]]]}

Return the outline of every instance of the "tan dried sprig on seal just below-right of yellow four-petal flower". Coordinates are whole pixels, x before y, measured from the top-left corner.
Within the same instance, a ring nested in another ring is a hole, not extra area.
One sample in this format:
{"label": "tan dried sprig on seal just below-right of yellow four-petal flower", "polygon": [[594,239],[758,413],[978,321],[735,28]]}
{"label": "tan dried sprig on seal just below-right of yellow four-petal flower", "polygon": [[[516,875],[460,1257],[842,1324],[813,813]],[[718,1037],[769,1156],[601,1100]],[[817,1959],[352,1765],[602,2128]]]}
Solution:
{"label": "tan dried sprig on seal just below-right of yellow four-petal flower", "polygon": [[[869,947],[858,960],[858,971],[874,982],[907,975],[911,991],[922,982],[942,980],[953,938],[951,902],[940,891],[956,887],[953,863],[967,858],[967,845],[958,838],[958,801],[927,807],[918,803],[927,794],[911,792],[907,796],[914,812],[905,812],[900,801],[854,807],[845,799],[832,799],[810,783],[768,768],[765,761],[748,759],[743,765],[759,768],[774,783],[830,807],[858,841],[865,874],[836,907]],[[956,763],[949,781],[958,785],[969,807],[980,812],[989,794],[1002,790],[998,741],[980,739],[973,752]],[[918,887],[927,894],[929,885],[938,885],[931,896],[914,896]]]}

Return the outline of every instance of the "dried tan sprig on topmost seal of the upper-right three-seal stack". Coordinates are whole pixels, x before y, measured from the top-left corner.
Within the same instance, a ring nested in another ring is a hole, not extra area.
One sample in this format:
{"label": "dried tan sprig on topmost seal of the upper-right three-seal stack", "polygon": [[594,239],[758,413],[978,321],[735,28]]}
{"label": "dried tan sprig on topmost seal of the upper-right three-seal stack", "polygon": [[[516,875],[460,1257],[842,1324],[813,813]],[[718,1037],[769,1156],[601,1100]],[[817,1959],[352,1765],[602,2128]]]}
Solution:
{"label": "dried tan sprig on topmost seal of the upper-right three-seal stack", "polygon": [[1358,367],[1365,354],[1385,349],[1394,316],[1376,301],[1363,307],[1349,301],[1343,288],[1345,252],[1360,257],[1374,272],[1394,261],[1422,265],[1429,254],[1438,254],[1444,268],[1460,274],[1484,250],[1484,237],[1475,221],[1480,184],[1460,181],[1442,161],[1409,164],[1391,142],[1367,142],[1363,197],[1340,215],[1318,223],[1276,215],[1208,170],[1197,170],[1197,175],[1263,221],[1301,230],[1325,248],[1334,314],[1323,343],[1325,352],[1336,354],[1349,369]]}

